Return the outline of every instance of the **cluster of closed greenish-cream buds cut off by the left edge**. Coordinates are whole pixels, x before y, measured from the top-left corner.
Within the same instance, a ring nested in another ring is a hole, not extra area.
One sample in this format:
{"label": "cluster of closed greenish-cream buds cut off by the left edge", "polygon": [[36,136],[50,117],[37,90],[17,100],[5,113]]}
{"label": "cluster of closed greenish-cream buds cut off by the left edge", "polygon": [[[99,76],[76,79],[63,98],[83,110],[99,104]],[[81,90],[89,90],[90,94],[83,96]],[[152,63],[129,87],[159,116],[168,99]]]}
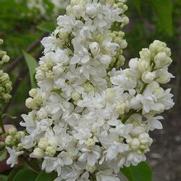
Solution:
{"label": "cluster of closed greenish-cream buds cut off by the left edge", "polygon": [[[1,44],[3,44],[3,40],[0,39]],[[12,83],[9,75],[2,70],[3,65],[9,62],[9,60],[10,58],[7,53],[0,50],[0,109],[11,98]]]}

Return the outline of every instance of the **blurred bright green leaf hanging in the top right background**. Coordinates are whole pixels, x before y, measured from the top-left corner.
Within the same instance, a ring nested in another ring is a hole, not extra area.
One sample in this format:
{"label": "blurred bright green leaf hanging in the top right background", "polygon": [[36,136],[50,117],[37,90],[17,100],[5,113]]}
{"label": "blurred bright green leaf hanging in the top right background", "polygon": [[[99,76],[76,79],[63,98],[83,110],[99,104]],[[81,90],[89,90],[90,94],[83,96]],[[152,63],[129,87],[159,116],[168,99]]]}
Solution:
{"label": "blurred bright green leaf hanging in the top right background", "polygon": [[173,35],[173,4],[171,0],[151,0],[157,14],[158,30],[168,36]]}

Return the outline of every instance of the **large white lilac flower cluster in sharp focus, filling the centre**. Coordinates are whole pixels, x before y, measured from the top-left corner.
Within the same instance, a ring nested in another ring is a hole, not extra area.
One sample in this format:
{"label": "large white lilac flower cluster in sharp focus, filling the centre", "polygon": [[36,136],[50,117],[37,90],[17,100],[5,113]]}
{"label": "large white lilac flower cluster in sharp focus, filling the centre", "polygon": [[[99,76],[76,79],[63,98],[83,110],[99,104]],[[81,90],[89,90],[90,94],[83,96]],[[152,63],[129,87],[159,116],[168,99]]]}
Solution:
{"label": "large white lilac flower cluster in sharp focus, filling the centre", "polygon": [[71,0],[42,40],[22,145],[56,181],[120,181],[121,167],[146,159],[149,132],[162,128],[157,114],[174,105],[161,87],[173,77],[165,43],[154,41],[120,69],[126,10],[125,0]]}

